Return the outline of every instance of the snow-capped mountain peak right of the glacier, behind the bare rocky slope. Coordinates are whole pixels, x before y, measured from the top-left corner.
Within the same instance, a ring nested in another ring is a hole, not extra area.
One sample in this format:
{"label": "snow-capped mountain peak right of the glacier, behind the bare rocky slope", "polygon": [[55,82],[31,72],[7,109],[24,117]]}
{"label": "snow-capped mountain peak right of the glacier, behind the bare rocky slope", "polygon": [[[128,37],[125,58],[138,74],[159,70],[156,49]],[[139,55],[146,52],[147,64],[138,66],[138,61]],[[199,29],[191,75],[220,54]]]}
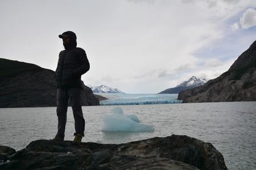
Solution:
{"label": "snow-capped mountain peak right of the glacier, behind the bare rocky slope", "polygon": [[206,82],[207,81],[204,78],[196,78],[195,76],[192,76],[188,81],[180,83],[176,87],[165,89],[164,91],[160,92],[160,94],[178,94],[185,89],[203,86]]}

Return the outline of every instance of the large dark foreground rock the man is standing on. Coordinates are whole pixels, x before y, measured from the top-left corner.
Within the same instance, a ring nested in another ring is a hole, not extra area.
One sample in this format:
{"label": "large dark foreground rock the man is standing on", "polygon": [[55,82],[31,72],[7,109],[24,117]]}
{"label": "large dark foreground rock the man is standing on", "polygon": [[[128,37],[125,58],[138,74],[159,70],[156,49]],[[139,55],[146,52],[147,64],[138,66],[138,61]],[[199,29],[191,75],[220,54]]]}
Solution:
{"label": "large dark foreground rock the man is standing on", "polygon": [[33,141],[0,169],[227,169],[213,145],[188,136],[123,144]]}

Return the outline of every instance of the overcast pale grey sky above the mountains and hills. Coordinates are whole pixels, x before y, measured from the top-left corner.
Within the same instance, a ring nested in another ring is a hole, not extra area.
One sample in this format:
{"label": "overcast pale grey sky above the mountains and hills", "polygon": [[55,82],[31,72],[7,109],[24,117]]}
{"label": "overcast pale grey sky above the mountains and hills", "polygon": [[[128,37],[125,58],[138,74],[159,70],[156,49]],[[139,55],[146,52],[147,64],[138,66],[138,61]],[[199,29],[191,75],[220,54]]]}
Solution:
{"label": "overcast pale grey sky above the mountains and hills", "polygon": [[73,31],[82,81],[159,93],[220,76],[256,40],[255,0],[0,0],[0,58],[55,71],[58,34]]}

